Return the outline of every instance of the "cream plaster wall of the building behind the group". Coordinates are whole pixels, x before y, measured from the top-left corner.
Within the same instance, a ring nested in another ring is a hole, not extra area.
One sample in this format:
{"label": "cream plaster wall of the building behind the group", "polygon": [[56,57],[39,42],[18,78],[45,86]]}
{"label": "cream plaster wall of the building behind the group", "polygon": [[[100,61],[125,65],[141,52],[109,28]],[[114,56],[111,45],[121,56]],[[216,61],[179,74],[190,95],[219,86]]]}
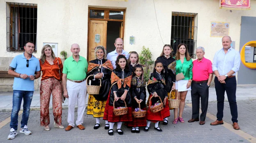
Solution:
{"label": "cream plaster wall of the building behind the group", "polygon": [[[157,22],[153,0],[8,0],[38,4],[37,48],[40,57],[43,42],[57,42],[58,55],[62,50],[71,56],[72,43],[78,43],[80,55],[87,57],[88,6],[126,8],[124,49],[140,52],[142,46],[149,47],[156,59],[162,46],[170,43],[171,12],[198,13],[197,47],[206,48],[206,58],[222,48],[221,38],[210,37],[210,22],[230,22],[229,36],[238,50],[240,43],[241,16],[256,16],[256,1],[251,0],[251,10],[219,9],[219,0],[155,0]],[[0,0],[0,57],[14,57],[20,53],[6,51],[6,0]],[[129,45],[129,36],[135,36],[135,45]],[[114,43],[114,41],[113,41]],[[114,45],[113,45],[114,46]]]}

